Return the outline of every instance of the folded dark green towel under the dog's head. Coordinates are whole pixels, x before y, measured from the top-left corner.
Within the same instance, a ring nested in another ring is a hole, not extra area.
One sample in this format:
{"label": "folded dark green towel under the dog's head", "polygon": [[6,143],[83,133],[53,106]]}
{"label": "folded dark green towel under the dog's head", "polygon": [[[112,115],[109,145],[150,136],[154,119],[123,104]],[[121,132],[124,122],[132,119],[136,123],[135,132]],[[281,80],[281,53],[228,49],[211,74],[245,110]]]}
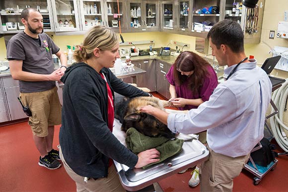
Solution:
{"label": "folded dark green towel under the dog's head", "polygon": [[164,136],[161,137],[145,136],[135,128],[129,128],[127,130],[127,138],[125,140],[127,147],[136,154],[151,148],[156,148],[160,152],[159,157],[160,161],[150,163],[144,166],[143,169],[146,169],[150,165],[160,163],[165,159],[181,152],[182,145],[184,142],[183,139],[177,139],[177,138],[175,138],[174,140],[170,140]]}

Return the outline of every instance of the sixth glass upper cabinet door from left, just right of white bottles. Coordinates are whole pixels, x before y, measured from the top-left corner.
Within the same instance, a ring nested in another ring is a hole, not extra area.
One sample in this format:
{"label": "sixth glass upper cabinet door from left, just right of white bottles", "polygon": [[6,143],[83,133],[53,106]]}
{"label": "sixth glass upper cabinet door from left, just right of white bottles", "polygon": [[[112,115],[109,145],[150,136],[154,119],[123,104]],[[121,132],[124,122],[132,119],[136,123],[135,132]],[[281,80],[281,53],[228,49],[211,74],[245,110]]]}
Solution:
{"label": "sixth glass upper cabinet door from left, just right of white bottles", "polygon": [[159,28],[159,3],[155,1],[144,1],[144,26],[150,28]]}

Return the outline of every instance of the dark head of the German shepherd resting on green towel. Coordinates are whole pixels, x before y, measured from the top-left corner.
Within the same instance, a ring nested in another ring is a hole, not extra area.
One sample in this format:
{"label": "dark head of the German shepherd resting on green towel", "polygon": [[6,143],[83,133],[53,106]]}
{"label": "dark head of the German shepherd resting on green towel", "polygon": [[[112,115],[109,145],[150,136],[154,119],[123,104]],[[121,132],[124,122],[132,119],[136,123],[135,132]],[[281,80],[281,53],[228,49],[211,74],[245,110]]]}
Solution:
{"label": "dark head of the German shepherd resting on green towel", "polygon": [[165,136],[173,138],[175,136],[165,124],[153,116],[140,111],[125,116],[123,125],[126,128],[136,128],[139,132],[150,137]]}

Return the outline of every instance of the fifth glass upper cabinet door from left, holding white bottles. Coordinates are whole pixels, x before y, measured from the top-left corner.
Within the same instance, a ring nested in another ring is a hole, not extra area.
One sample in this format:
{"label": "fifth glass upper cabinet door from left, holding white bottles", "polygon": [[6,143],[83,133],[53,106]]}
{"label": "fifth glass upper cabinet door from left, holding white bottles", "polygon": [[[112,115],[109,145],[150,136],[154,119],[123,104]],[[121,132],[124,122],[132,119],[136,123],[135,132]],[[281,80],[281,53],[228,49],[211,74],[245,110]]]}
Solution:
{"label": "fifth glass upper cabinet door from left, holding white bottles", "polygon": [[144,28],[144,14],[142,0],[128,0],[128,28],[129,29],[143,29]]}

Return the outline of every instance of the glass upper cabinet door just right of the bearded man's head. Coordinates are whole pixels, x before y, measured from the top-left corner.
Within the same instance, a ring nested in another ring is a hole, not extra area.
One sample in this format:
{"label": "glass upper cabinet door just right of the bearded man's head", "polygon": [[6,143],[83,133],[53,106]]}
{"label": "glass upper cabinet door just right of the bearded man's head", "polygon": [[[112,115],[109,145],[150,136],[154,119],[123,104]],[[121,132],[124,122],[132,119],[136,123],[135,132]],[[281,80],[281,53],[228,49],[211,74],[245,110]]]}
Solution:
{"label": "glass upper cabinet door just right of the bearded man's head", "polygon": [[55,31],[79,31],[76,0],[51,0]]}

